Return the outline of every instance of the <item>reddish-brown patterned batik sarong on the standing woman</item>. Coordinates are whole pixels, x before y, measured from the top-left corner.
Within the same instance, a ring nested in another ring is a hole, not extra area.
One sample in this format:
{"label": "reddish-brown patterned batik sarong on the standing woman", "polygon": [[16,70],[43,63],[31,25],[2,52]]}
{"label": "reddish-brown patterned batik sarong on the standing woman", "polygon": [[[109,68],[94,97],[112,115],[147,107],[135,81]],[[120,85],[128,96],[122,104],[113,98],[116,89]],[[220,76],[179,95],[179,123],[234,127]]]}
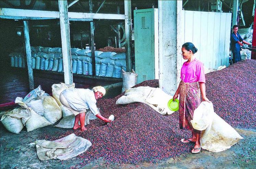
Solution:
{"label": "reddish-brown patterned batik sarong on the standing woman", "polygon": [[180,100],[179,100],[179,124],[180,129],[188,129],[190,131],[200,133],[199,130],[195,130],[191,124],[193,119],[194,110],[199,106],[200,89],[198,82],[180,83]]}

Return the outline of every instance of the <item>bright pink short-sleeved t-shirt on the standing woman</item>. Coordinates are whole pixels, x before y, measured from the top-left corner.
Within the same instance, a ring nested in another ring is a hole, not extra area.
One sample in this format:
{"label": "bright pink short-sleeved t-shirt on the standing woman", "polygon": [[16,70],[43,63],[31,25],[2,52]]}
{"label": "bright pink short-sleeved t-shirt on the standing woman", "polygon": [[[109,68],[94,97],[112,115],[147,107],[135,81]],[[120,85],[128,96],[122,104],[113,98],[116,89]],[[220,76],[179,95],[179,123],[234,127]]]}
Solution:
{"label": "bright pink short-sleeved t-shirt on the standing woman", "polygon": [[190,63],[184,62],[181,68],[181,80],[185,83],[205,83],[205,72],[203,63],[197,59],[194,59]]}

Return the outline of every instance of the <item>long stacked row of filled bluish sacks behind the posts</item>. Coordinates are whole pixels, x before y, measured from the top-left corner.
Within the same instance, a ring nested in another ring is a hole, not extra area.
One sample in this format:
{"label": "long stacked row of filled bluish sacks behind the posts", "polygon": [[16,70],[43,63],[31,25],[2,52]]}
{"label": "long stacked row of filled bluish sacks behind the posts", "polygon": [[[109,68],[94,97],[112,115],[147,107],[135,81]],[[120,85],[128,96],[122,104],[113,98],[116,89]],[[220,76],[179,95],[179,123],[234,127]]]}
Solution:
{"label": "long stacked row of filled bluish sacks behind the posts", "polygon": [[[25,67],[22,53],[11,53],[11,66]],[[60,47],[32,46],[32,68],[63,72],[62,49]],[[93,75],[92,52],[88,49],[71,48],[72,72]],[[95,51],[96,76],[122,78],[122,69],[126,71],[125,53]]]}

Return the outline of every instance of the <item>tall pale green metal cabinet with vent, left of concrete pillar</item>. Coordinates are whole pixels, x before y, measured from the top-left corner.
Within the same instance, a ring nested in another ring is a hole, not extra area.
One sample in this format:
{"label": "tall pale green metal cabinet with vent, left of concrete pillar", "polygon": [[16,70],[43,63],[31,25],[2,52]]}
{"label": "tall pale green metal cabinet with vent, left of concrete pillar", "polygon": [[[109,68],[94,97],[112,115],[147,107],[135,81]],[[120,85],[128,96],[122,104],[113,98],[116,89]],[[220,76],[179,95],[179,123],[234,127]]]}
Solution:
{"label": "tall pale green metal cabinet with vent, left of concrete pillar", "polygon": [[158,9],[134,10],[134,43],[137,82],[159,79]]}

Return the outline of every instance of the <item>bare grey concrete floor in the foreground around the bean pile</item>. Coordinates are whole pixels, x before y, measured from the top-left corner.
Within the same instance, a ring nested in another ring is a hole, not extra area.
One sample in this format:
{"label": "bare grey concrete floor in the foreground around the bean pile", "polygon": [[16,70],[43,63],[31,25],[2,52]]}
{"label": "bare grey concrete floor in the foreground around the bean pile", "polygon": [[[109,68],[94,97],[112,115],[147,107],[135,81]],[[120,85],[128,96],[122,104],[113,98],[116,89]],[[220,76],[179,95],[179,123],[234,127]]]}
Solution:
{"label": "bare grey concrete floor in the foreground around the bean pile", "polygon": [[[0,124],[0,166],[3,169],[59,169],[70,168],[81,162],[79,158],[65,161],[40,161],[36,155],[35,145],[30,145],[41,133],[53,134],[56,131],[65,132],[71,129],[61,129],[47,126],[34,131],[21,131],[20,134],[8,132]],[[256,166],[256,130],[238,129],[236,131],[244,138],[229,150],[213,153],[202,151],[199,154],[184,154],[157,163],[108,164],[103,159],[95,160],[82,168],[255,168]]]}

